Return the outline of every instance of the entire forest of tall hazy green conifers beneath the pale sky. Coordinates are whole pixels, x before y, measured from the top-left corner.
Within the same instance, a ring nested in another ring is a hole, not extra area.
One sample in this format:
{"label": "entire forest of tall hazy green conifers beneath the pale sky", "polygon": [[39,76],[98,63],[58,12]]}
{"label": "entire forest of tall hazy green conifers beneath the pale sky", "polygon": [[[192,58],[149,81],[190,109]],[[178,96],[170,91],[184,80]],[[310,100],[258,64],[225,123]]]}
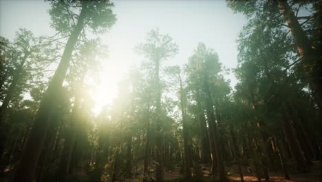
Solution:
{"label": "entire forest of tall hazy green conifers beneath the pale sky", "polygon": [[[235,68],[222,60],[231,50],[200,41],[187,52],[149,27],[132,48],[142,61],[100,110],[98,79],[118,77],[100,74],[118,2],[41,3],[52,33],[0,28],[0,181],[322,180],[321,0],[222,1],[246,22],[231,35]],[[219,31],[220,18],[208,22]],[[177,64],[180,52],[189,57]]]}

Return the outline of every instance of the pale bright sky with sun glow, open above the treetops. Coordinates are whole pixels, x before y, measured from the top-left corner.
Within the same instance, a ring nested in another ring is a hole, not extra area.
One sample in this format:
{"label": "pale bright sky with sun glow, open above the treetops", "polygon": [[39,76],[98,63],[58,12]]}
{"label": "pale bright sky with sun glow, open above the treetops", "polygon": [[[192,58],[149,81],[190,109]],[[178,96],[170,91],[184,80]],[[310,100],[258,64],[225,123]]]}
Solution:
{"label": "pale bright sky with sun glow, open above the treetops", "polygon": [[[241,14],[233,14],[225,1],[115,1],[115,26],[100,36],[109,46],[109,59],[100,72],[100,84],[94,92],[98,112],[111,103],[117,93],[117,83],[142,57],[133,52],[144,41],[147,32],[160,28],[178,44],[176,57],[164,65],[183,65],[193,54],[197,43],[204,42],[219,54],[226,68],[237,65],[237,35],[246,23]],[[44,1],[0,0],[0,35],[12,40],[19,28],[27,28],[35,35],[54,34],[50,28],[50,6]],[[230,85],[237,82],[233,74],[227,75]]]}

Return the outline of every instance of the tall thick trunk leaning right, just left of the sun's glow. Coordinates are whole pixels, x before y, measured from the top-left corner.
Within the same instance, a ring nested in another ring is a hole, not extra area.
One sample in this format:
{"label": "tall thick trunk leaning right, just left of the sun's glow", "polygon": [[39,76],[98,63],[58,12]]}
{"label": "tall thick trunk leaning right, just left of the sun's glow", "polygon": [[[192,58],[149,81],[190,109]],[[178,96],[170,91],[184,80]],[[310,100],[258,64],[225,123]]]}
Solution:
{"label": "tall thick trunk leaning right, just left of the sun's glow", "polygon": [[81,31],[83,30],[86,6],[86,1],[83,1],[81,14],[78,17],[76,27],[66,43],[61,62],[48,85],[45,96],[41,101],[39,110],[34,119],[34,125],[23,150],[21,161],[14,173],[14,182],[32,181],[34,177],[34,171],[38,165],[39,155],[41,154],[43,142],[45,141],[45,136],[47,134],[49,118],[52,116],[54,105],[56,105],[56,93],[61,89],[67,69],[69,68],[69,61],[72,57],[74,46],[76,45],[79,34],[81,34]]}

